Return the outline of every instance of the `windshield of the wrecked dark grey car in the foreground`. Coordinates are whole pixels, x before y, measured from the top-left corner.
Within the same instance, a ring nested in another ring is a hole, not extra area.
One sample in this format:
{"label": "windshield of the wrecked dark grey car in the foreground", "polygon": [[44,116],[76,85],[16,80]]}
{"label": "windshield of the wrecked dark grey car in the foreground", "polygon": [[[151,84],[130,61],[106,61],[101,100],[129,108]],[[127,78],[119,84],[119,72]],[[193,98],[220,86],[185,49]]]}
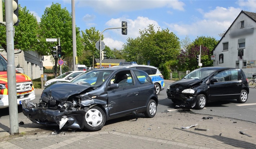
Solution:
{"label": "windshield of the wrecked dark grey car in the foreground", "polygon": [[71,83],[87,85],[90,87],[99,87],[103,84],[103,82],[105,82],[105,80],[111,73],[111,70],[88,71],[76,77],[74,80],[71,81]]}

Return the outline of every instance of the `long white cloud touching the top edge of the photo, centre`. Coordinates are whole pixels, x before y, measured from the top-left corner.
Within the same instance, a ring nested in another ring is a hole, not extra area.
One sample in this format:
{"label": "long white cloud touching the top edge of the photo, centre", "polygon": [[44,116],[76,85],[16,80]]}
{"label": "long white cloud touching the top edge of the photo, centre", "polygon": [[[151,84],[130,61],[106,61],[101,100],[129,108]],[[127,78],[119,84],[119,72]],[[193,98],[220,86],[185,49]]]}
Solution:
{"label": "long white cloud touching the top edge of the photo, centre", "polygon": [[179,0],[100,0],[100,2],[99,0],[80,0],[77,6],[89,6],[94,8],[94,11],[102,14],[115,14],[163,7],[184,11],[185,4]]}

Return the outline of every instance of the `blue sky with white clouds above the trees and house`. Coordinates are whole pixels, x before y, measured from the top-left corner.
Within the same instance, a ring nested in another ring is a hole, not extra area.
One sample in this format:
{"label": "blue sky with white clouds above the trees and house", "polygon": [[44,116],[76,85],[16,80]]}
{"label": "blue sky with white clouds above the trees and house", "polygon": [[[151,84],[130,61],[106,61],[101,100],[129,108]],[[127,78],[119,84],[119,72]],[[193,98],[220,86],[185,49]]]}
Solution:
{"label": "blue sky with white clouds above the trees and house", "polygon": [[[19,0],[18,3],[36,16],[40,22],[46,7],[61,4],[71,13],[71,0]],[[138,37],[140,29],[154,24],[155,29],[169,29],[180,40],[191,41],[199,36],[220,39],[241,10],[256,13],[256,0],[75,0],[75,22],[80,31],[95,27],[121,27],[127,21],[128,34],[121,29],[103,32],[106,46],[120,50],[127,38]],[[49,37],[51,38],[51,37]]]}

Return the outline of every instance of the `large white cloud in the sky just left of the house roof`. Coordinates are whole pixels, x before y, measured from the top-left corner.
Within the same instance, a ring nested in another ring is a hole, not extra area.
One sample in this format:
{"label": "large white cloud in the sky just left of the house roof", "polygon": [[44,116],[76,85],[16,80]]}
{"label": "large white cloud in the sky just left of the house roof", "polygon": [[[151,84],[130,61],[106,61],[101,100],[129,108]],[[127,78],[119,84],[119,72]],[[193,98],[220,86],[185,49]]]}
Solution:
{"label": "large white cloud in the sky just left of the house roof", "polygon": [[210,10],[206,13],[202,9],[198,10],[203,16],[203,19],[194,18],[194,22],[191,24],[179,23],[165,23],[170,31],[180,36],[208,36],[219,39],[220,33],[226,31],[230,25],[234,22],[235,18],[240,13],[239,8],[223,8],[216,7],[214,10]]}

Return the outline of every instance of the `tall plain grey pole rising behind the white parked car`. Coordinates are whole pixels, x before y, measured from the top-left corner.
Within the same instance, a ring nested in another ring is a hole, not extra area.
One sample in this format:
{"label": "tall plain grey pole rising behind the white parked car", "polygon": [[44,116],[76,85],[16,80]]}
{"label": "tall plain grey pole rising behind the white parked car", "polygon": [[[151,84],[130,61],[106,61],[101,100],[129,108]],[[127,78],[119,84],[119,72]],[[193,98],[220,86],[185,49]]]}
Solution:
{"label": "tall plain grey pole rising behind the white parked car", "polygon": [[75,0],[72,0],[72,37],[73,37],[73,70],[77,70],[76,64],[76,22],[75,22]]}

